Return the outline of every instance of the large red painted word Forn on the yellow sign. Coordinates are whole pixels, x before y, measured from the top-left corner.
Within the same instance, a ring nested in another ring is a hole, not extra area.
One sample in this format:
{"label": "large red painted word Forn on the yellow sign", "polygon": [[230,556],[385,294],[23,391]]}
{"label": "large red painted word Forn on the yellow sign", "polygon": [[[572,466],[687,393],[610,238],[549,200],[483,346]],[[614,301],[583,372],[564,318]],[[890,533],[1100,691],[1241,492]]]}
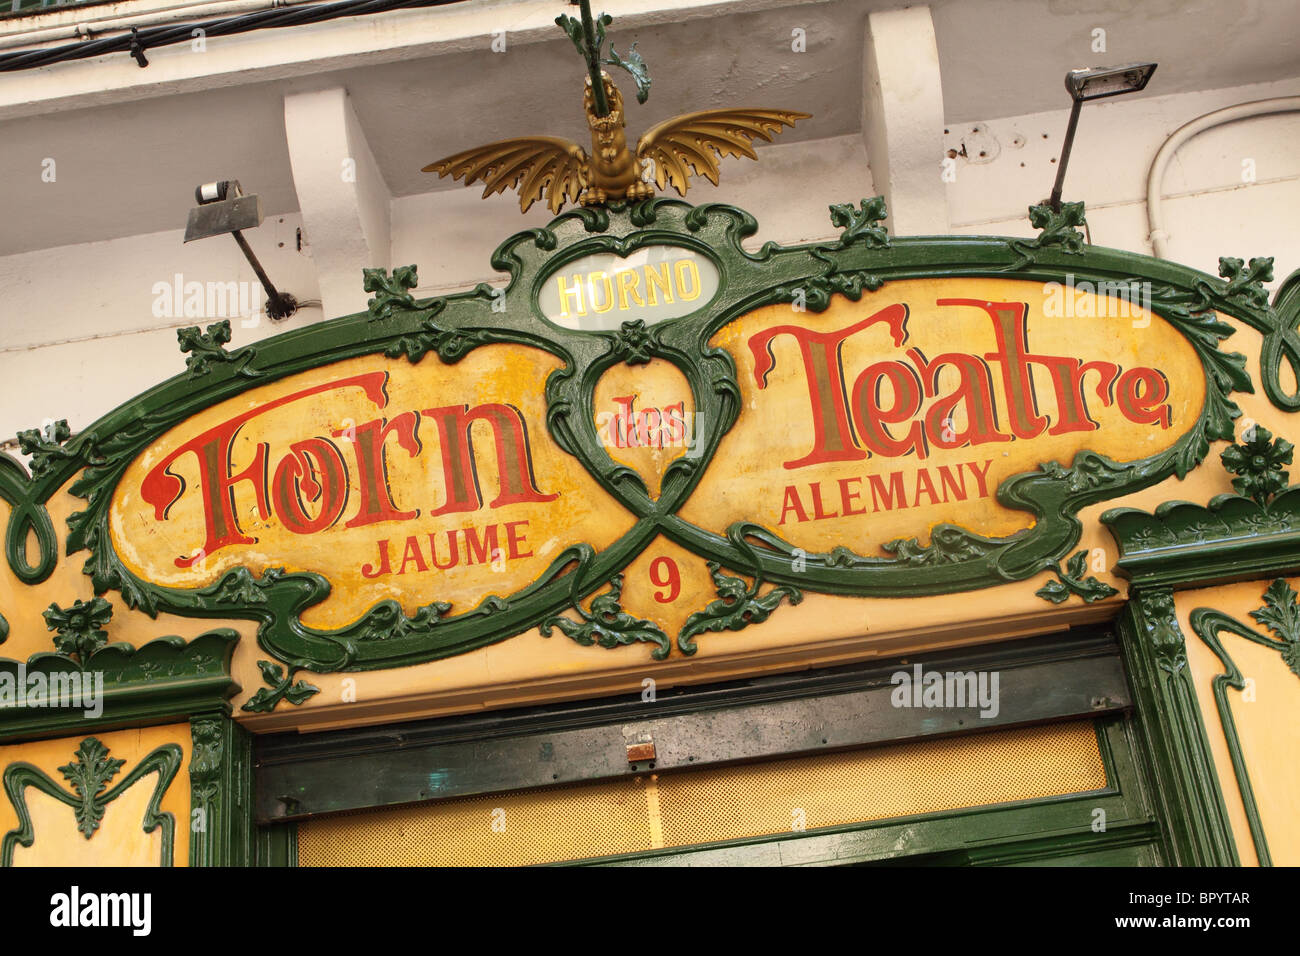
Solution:
{"label": "large red painted word Forn on the yellow sign", "polygon": [[[240,485],[251,489],[261,520],[269,520],[274,514],[280,518],[280,523],[295,535],[315,535],[337,524],[351,497],[351,472],[338,445],[321,436],[290,442],[286,454],[272,470],[270,445],[256,442],[252,460],[243,470],[235,471],[231,462],[235,437],[248,421],[273,408],[334,390],[360,388],[377,408],[384,408],[389,402],[386,385],[387,372],[365,372],[295,392],[209,428],[151,468],[140,483],[140,496],[153,506],[155,518],[161,522],[166,520],[172,506],[185,493],[185,481],[170,471],[172,466],[187,454],[192,454],[199,464],[207,537],[198,554],[177,558],[177,567],[191,567],[204,557],[230,545],[256,544],[257,538],[246,535],[239,524],[235,489]],[[441,506],[429,512],[430,516],[477,511],[482,507],[478,470],[469,438],[469,428],[474,421],[488,423],[495,440],[493,447],[500,477],[500,493],[489,507],[546,502],[559,497],[559,494],[543,494],[537,489],[532,450],[528,444],[528,425],[519,408],[500,403],[473,407],[448,405],[422,411],[404,411],[393,419],[378,418],[333,431],[333,437],[342,437],[351,445],[352,464],[359,483],[356,510],[343,527],[360,528],[378,522],[406,522],[420,515],[420,509],[402,510],[393,501],[386,455],[390,438],[410,458],[420,454],[424,447],[420,441],[421,416],[433,419],[438,428],[442,486],[446,497]],[[308,511],[308,502],[315,505],[315,515]]]}

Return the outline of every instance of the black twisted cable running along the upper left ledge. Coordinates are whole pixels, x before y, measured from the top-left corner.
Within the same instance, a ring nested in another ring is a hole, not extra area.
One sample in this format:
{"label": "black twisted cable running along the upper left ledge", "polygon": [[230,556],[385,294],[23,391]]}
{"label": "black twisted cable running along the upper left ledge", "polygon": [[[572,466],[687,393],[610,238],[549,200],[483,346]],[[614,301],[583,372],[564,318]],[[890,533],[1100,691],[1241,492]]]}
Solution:
{"label": "black twisted cable running along the upper left ledge", "polygon": [[[311,7],[276,7],[269,10],[256,10],[238,17],[225,20],[190,21],[170,26],[152,26],[146,30],[133,29],[120,36],[105,36],[99,40],[86,40],[82,43],[69,43],[62,47],[48,47],[46,49],[27,49],[13,53],[0,53],[0,73],[13,70],[30,70],[36,66],[48,66],[69,60],[86,60],[104,53],[139,52],[143,60],[144,49],[166,47],[174,43],[188,43],[194,39],[194,30],[203,30],[207,36],[230,36],[233,34],[250,33],[251,30],[266,30],[278,26],[298,26],[300,23],[320,23],[326,20],[339,17],[364,17],[368,13],[384,13],[386,10],[412,9],[420,7],[446,7],[464,0],[339,0],[332,4],[313,4]],[[134,56],[135,53],[133,53]],[[146,66],[147,61],[140,62]]]}

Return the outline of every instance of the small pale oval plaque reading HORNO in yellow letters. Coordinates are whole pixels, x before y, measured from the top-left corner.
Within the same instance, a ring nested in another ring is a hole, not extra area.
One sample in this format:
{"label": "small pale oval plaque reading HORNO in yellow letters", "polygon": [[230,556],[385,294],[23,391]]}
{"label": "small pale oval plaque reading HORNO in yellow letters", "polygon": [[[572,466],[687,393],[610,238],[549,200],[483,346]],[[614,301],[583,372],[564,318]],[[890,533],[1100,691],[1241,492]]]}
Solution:
{"label": "small pale oval plaque reading HORNO in yellow letters", "polygon": [[582,256],[546,277],[542,315],[567,329],[612,332],[630,319],[646,325],[677,319],[718,293],[718,267],[682,246],[646,246],[627,258]]}

